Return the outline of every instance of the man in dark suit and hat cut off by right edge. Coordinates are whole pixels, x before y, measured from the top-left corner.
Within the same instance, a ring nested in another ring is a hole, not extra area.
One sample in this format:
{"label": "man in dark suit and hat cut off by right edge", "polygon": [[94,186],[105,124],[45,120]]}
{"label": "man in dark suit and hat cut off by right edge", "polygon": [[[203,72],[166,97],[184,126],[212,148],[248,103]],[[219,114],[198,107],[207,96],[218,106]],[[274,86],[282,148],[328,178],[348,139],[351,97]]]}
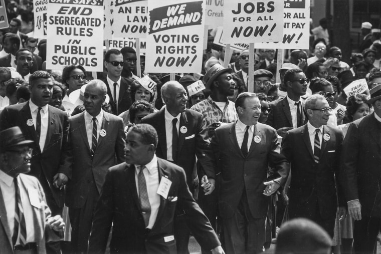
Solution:
{"label": "man in dark suit and hat cut off by right edge", "polygon": [[381,229],[381,85],[370,90],[374,112],[354,121],[342,148],[341,185],[354,221],[356,253],[373,253]]}

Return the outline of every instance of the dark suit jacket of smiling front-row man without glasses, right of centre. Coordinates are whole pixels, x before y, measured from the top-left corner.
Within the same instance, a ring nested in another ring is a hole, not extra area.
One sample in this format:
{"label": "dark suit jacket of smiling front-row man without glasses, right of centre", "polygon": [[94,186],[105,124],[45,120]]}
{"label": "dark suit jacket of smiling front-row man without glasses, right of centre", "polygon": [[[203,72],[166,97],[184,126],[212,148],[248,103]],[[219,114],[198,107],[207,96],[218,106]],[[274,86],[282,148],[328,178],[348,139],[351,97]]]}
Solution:
{"label": "dark suit jacket of smiling front-row man without glasses, right of centre", "polygon": [[216,129],[212,137],[212,149],[216,167],[221,169],[219,211],[222,218],[231,218],[237,210],[244,189],[250,212],[254,218],[267,215],[269,198],[263,195],[268,181],[268,166],[274,164],[273,180],[284,186],[289,174],[289,163],[280,151],[276,131],[265,124],[255,125],[254,137],[248,155],[244,157],[237,142],[236,125],[230,123]]}

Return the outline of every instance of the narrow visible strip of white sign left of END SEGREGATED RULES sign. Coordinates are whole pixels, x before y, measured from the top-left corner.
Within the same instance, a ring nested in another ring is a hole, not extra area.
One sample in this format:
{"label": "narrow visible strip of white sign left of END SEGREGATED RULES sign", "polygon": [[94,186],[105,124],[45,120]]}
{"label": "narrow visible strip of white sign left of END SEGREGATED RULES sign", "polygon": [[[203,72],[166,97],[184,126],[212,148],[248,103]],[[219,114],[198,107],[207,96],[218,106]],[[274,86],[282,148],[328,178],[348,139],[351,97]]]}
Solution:
{"label": "narrow visible strip of white sign left of END SEGREGATED RULES sign", "polygon": [[35,19],[34,38],[46,39],[46,13],[48,0],[33,0]]}

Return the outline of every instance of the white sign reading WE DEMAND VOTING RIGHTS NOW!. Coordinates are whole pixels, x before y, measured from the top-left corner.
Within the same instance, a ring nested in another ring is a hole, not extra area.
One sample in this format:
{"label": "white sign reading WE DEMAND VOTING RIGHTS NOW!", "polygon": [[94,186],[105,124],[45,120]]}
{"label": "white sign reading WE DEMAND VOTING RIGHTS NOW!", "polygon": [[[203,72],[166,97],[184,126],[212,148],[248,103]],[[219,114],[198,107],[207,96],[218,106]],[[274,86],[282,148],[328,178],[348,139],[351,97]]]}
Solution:
{"label": "white sign reading WE DEMAND VOTING RIGHTS NOW!", "polygon": [[148,0],[148,73],[201,72],[205,1]]}

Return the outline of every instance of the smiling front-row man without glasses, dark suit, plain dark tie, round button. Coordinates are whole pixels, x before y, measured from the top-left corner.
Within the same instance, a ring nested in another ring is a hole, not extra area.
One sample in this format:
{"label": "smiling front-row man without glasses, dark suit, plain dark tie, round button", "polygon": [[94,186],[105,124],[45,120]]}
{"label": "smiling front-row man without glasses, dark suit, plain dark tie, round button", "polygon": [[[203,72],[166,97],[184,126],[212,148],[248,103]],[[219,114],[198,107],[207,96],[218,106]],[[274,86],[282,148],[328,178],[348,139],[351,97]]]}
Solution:
{"label": "smiling front-row man without glasses, dark suit, plain dark tie, round button", "polygon": [[[284,186],[289,163],[277,133],[258,123],[261,104],[254,93],[238,95],[237,123],[222,125],[212,137],[216,168],[221,169],[219,210],[227,253],[260,253],[265,243],[269,196]],[[268,179],[269,163],[275,167]]]}

